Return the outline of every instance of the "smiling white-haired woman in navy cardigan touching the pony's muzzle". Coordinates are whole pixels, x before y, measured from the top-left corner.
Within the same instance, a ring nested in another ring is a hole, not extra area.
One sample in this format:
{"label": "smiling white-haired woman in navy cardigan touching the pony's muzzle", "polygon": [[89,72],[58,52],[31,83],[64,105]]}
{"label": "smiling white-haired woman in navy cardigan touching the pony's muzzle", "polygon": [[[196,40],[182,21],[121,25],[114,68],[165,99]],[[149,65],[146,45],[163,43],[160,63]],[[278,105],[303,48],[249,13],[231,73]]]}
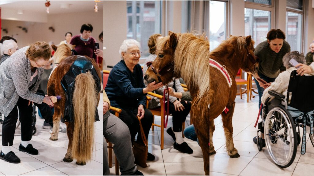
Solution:
{"label": "smiling white-haired woman in navy cardigan touching the pony's muzzle", "polygon": [[[121,61],[110,71],[105,92],[113,107],[122,109],[119,118],[127,124],[130,130],[131,140],[137,133],[137,142],[143,143],[139,130],[139,122],[136,116],[140,116],[146,138],[153,123],[152,113],[145,108],[147,92],[158,89],[162,83],[150,83],[145,87],[143,71],[138,64],[141,57],[140,44],[133,39],[124,40],[119,49]],[[148,153],[147,160],[155,157]]]}

